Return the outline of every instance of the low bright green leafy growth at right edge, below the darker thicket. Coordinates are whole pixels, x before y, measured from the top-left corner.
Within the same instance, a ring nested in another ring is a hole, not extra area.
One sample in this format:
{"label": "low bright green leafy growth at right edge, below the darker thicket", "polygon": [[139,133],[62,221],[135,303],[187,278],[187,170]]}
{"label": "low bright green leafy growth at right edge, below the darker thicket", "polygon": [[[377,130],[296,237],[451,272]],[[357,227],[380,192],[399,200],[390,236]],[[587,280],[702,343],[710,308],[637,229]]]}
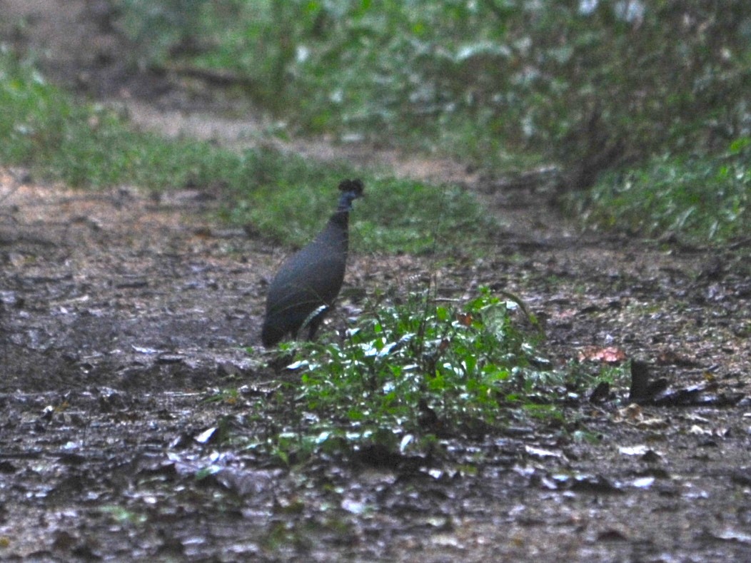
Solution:
{"label": "low bright green leafy growth at right edge, below the darker thicket", "polygon": [[726,241],[751,231],[751,143],[741,139],[722,156],[652,158],[643,167],[610,173],[586,202],[570,199],[593,227],[619,227],[692,242]]}

